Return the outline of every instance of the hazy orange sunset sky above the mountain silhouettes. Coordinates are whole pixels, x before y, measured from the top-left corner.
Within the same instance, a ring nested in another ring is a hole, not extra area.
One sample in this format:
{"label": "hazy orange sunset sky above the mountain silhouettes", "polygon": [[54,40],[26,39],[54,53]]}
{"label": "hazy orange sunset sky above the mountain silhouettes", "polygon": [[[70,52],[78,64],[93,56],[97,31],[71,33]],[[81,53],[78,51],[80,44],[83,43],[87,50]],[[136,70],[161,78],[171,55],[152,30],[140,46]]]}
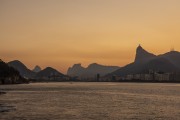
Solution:
{"label": "hazy orange sunset sky above the mountain silhouettes", "polygon": [[180,0],[0,0],[0,58],[66,73],[180,51]]}

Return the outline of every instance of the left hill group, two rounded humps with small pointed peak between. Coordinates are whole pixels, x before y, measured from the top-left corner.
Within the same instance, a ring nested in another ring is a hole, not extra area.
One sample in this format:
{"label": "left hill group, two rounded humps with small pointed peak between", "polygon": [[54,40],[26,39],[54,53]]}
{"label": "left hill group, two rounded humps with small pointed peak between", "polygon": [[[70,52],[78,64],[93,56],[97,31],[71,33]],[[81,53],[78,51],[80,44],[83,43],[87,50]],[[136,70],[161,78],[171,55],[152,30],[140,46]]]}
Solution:
{"label": "left hill group, two rounded humps with small pointed peak between", "polygon": [[30,79],[41,79],[41,78],[48,79],[52,75],[62,76],[62,77],[65,76],[64,74],[58,72],[56,69],[51,67],[47,67],[41,70],[39,66],[35,66],[33,70],[30,70],[22,62],[18,60],[11,61],[8,63],[8,65],[18,70],[21,76]]}

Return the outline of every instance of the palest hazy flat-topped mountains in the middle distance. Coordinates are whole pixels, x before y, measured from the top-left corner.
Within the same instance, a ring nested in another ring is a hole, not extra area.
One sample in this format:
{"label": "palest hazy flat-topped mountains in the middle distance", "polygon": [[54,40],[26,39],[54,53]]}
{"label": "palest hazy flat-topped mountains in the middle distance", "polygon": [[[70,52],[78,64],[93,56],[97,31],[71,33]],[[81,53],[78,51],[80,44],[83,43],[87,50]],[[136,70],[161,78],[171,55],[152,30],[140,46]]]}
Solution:
{"label": "palest hazy flat-topped mountains in the middle distance", "polygon": [[112,73],[119,69],[118,66],[104,66],[97,63],[90,64],[87,68],[81,66],[81,64],[74,64],[67,71],[69,76],[77,76],[80,78],[94,78],[97,74],[104,76],[108,73]]}

